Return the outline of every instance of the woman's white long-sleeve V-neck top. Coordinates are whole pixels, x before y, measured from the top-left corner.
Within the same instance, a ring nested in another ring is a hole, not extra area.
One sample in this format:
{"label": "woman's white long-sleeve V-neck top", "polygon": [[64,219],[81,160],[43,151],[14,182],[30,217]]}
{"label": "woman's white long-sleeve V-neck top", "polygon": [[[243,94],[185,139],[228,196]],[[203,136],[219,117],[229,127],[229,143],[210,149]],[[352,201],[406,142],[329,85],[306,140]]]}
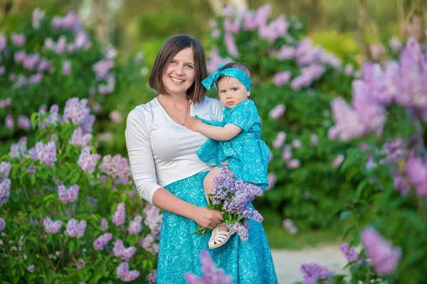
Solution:
{"label": "woman's white long-sleeve V-neck top", "polygon": [[[221,121],[223,106],[216,99],[204,97],[191,104],[190,115]],[[157,98],[130,111],[125,138],[137,191],[150,203],[160,187],[211,169],[196,155],[206,136],[172,120]]]}

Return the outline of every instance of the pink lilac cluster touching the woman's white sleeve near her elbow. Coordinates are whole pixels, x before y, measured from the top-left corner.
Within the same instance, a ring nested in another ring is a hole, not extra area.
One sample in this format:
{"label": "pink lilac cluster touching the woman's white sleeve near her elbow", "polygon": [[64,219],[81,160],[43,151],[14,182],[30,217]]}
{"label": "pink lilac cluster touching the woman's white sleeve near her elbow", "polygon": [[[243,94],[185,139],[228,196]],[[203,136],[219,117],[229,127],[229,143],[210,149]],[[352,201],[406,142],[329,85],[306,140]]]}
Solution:
{"label": "pink lilac cluster touching the woman's white sleeve near her elbow", "polygon": [[124,158],[119,154],[114,157],[111,157],[111,155],[105,155],[98,168],[102,173],[107,174],[113,179],[121,178],[122,180],[129,181],[132,177],[127,158]]}

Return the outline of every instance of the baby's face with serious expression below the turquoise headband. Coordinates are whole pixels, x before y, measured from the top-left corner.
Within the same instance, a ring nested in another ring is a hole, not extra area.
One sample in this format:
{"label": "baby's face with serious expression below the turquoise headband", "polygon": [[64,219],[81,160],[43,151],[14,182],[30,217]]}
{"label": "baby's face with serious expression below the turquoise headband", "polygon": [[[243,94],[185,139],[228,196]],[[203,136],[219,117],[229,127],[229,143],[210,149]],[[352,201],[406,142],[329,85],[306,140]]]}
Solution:
{"label": "baby's face with serious expression below the turquoise headband", "polygon": [[219,100],[221,104],[233,109],[248,99],[251,94],[248,89],[234,77],[221,77],[218,80]]}

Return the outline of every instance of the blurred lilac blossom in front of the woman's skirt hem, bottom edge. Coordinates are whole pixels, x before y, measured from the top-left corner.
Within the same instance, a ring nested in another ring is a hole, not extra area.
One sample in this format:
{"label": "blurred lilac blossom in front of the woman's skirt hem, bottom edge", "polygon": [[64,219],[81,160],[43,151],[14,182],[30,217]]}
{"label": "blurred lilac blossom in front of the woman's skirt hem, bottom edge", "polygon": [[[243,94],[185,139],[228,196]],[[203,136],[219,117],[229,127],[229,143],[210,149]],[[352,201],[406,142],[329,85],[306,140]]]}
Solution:
{"label": "blurred lilac blossom in front of the woman's skirt hem, bottom edge", "polygon": [[209,251],[201,251],[200,253],[201,262],[201,277],[197,276],[192,272],[184,273],[184,278],[189,284],[231,284],[233,283],[233,277],[226,275],[226,272],[217,268],[214,261],[212,261]]}

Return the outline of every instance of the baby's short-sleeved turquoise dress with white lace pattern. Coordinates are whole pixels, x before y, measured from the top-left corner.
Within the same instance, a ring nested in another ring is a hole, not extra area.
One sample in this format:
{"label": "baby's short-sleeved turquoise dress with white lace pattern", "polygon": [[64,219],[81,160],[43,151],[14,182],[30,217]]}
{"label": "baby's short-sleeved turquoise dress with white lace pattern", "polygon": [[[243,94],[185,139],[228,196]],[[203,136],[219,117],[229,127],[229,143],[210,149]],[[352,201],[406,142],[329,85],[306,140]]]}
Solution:
{"label": "baby's short-sleeved turquoise dress with white lace pattern", "polygon": [[[200,119],[198,116],[196,118]],[[201,120],[214,126],[234,124],[243,130],[230,141],[208,138],[196,153],[200,160],[217,167],[222,167],[220,162],[228,162],[237,179],[252,182],[263,189],[267,187],[270,149],[260,139],[261,123],[252,99],[241,102],[233,109],[224,109],[221,122]]]}

